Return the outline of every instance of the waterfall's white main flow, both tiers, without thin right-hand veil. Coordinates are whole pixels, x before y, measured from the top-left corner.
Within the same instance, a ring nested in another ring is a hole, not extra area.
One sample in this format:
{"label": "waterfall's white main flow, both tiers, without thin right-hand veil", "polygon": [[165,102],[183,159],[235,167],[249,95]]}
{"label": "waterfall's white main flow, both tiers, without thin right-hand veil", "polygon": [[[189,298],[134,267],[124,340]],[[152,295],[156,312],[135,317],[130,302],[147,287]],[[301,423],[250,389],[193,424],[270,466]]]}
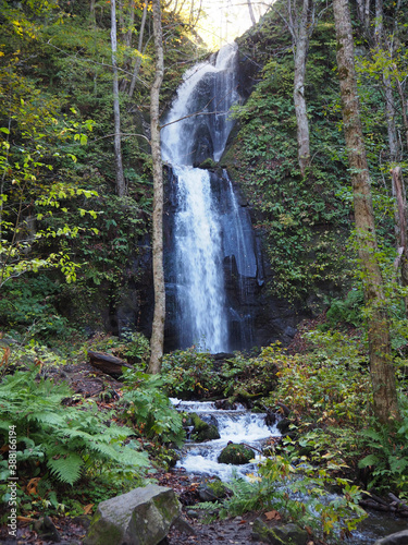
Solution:
{"label": "waterfall's white main flow, both tiers, without thin right-hand veil", "polygon": [[223,153],[233,123],[227,111],[238,99],[236,55],[236,44],[228,45],[220,50],[214,64],[200,63],[187,71],[162,130],[163,160],[177,178],[174,225],[178,336],[184,348],[195,344],[212,353],[230,348],[221,223],[210,174],[191,165],[199,146],[197,131],[206,134],[215,160]]}

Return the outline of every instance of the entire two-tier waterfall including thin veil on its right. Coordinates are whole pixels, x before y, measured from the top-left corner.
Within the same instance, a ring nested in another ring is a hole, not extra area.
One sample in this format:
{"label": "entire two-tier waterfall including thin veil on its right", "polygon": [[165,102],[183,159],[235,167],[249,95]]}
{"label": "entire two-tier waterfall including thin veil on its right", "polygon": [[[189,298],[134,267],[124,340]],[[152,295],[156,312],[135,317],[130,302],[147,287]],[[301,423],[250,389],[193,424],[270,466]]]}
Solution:
{"label": "entire two-tier waterfall including thin veil on its right", "polygon": [[226,290],[226,275],[237,272],[239,293],[234,298],[245,299],[242,279],[257,275],[249,214],[238,205],[226,172],[195,168],[207,158],[218,161],[224,152],[233,126],[228,111],[240,100],[237,55],[237,45],[228,45],[188,70],[162,129],[162,157],[176,184],[174,265],[166,283],[168,291],[173,289],[177,343],[212,353],[251,342],[248,313]]}

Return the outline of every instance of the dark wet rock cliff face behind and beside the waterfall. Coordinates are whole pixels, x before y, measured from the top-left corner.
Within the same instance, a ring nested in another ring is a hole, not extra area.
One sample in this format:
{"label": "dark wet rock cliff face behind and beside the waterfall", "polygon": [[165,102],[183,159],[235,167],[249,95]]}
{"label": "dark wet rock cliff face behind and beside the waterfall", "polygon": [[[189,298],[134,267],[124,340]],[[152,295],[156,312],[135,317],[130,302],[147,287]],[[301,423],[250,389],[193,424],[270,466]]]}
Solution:
{"label": "dark wet rock cliff face behind and beside the waterfall", "polygon": [[[236,64],[237,90],[242,99],[246,99],[256,83],[259,66],[240,55]],[[200,82],[200,100],[202,106],[211,100],[214,77],[208,74]],[[197,122],[194,131],[194,165],[211,166],[211,189],[217,202],[217,211],[221,222],[223,274],[225,281],[226,311],[231,350],[250,349],[267,346],[275,340],[288,343],[296,334],[297,324],[307,317],[299,306],[273,295],[271,283],[273,271],[262,251],[262,232],[252,229],[254,210],[243,197],[239,187],[231,181],[227,171],[220,168],[230,164],[228,149],[233,146],[232,130],[226,152],[219,164],[213,161],[214,146],[211,126],[208,122]],[[232,193],[235,194],[235,207],[232,211]],[[177,278],[175,266],[174,218],[177,209],[176,179],[168,169],[165,182],[164,213],[164,268],[166,277],[166,322],[165,350],[186,348],[181,346],[177,332],[177,315],[180,313],[176,296]],[[239,226],[235,225],[239,222]],[[239,234],[237,234],[237,229]],[[239,240],[238,240],[239,239]],[[125,286],[119,305],[110,313],[109,322],[113,330],[121,332],[123,328],[136,328],[149,337],[151,330],[153,293],[151,286],[151,255],[146,249],[134,261],[133,267],[140,271],[139,282]],[[178,328],[180,329],[180,328]]]}

